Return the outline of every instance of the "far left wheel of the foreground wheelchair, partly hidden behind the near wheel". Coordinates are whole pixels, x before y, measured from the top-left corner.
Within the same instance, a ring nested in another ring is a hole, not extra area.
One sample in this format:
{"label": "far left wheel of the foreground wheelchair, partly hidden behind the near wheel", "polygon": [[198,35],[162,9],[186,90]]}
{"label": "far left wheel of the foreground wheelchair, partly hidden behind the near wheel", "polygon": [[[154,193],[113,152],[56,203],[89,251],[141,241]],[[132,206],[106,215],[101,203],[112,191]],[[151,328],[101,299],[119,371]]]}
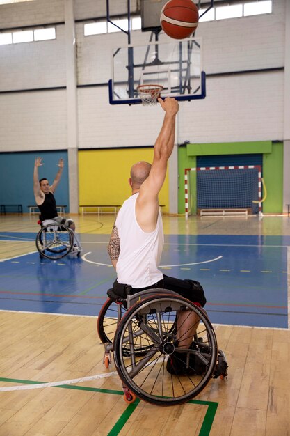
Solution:
{"label": "far left wheel of the foreground wheelchair, partly hidden behind the near wheel", "polygon": [[[97,318],[97,332],[102,343],[113,343],[118,324],[125,313],[126,309],[124,308],[123,304],[115,303],[110,298],[106,300]],[[136,340],[134,343],[135,355],[146,355],[147,350],[149,350],[151,347],[152,344],[144,345],[142,341]],[[122,353],[126,356],[130,355],[129,344],[123,343]]]}

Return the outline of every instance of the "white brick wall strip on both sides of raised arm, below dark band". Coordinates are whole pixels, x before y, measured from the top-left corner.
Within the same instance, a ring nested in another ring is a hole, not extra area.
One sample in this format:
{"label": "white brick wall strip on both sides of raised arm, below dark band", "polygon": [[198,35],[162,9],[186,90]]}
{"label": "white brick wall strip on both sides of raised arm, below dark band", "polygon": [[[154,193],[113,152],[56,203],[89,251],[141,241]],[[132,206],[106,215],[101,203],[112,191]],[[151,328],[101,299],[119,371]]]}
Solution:
{"label": "white brick wall strip on both sides of raised arm, below dark band", "polygon": [[[282,72],[212,77],[207,91],[180,103],[178,143],[282,140]],[[80,148],[152,145],[162,119],[159,106],[110,106],[106,88],[79,89]]]}

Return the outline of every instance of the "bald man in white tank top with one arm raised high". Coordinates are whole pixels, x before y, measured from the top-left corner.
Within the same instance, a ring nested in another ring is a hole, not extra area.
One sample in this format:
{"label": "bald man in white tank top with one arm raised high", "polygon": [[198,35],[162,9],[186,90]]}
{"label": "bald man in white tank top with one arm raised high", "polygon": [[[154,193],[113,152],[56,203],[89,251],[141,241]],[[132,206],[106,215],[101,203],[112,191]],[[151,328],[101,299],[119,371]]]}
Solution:
{"label": "bald man in white tank top with one arm raised high", "polygon": [[[131,293],[148,288],[175,290],[192,302],[204,306],[206,299],[200,283],[168,277],[158,269],[163,249],[163,226],[158,195],[166,178],[167,163],[175,140],[175,118],[179,104],[175,98],[158,99],[165,111],[163,125],[154,145],[152,165],[137,162],[131,168],[132,195],[124,201],[113,226],[108,254],[117,272],[114,292],[124,297],[125,285]],[[179,312],[177,339],[186,340],[179,348],[189,348],[199,319],[194,313]],[[183,337],[185,337],[183,336]],[[176,373],[176,371],[173,371]]]}

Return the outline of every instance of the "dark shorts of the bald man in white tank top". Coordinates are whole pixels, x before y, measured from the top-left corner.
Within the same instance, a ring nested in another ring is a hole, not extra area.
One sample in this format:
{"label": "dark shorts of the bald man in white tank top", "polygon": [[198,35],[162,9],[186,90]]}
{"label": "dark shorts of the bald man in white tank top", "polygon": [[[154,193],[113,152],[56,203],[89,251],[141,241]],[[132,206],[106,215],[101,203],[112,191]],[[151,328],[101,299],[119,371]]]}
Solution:
{"label": "dark shorts of the bald man in white tank top", "polygon": [[[117,280],[113,283],[114,293],[120,295],[120,297],[126,297],[125,284],[118,283]],[[159,280],[154,285],[147,286],[146,288],[131,288],[130,294],[136,294],[142,290],[152,289],[152,288],[163,288],[168,290],[174,290],[182,297],[189,299],[193,303],[198,303],[200,306],[204,306],[207,299],[204,295],[204,290],[198,281],[194,280],[182,280],[175,279],[175,277],[169,277],[163,274],[163,279]]]}

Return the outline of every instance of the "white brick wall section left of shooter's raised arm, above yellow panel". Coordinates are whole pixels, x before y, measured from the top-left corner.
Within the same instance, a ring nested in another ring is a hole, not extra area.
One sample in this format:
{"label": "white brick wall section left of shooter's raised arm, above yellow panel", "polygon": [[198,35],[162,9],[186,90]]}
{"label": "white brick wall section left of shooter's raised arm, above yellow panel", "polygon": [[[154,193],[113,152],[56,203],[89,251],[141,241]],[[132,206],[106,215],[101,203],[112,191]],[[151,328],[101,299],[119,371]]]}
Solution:
{"label": "white brick wall section left of shooter's raised arm, above yellow panel", "polygon": [[161,107],[111,106],[107,88],[79,89],[79,147],[152,145],[163,120]]}

